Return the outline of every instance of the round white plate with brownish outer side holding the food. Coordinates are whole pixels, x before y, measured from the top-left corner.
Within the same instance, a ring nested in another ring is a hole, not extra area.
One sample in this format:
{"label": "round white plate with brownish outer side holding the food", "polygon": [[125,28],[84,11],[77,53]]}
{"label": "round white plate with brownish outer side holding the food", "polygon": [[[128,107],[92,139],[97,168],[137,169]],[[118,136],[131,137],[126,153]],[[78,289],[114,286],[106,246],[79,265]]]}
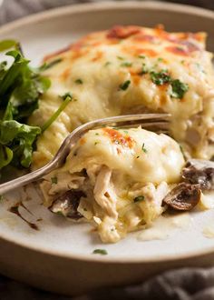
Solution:
{"label": "round white plate with brownish outer side holding the food", "polygon": [[[169,31],[207,31],[209,50],[214,49],[210,39],[214,35],[212,12],[151,2],[64,7],[5,25],[0,39],[19,40],[24,54],[37,65],[44,55],[94,30],[115,24],[160,23]],[[30,194],[34,194],[34,189]],[[15,192],[14,202],[23,197]],[[73,225],[52,215],[40,202],[36,195],[34,201],[24,202],[33,213],[25,212],[26,217],[38,225],[39,231],[8,212],[11,200],[0,206],[0,271],[32,285],[80,294],[96,286],[136,282],[174,265],[208,265],[210,257],[214,258],[214,238],[202,234],[204,226],[214,220],[214,210],[192,212],[189,226],[174,228],[168,239],[142,242],[138,232],[118,244],[102,245],[98,236],[91,233],[90,225]],[[41,217],[43,221],[36,222]],[[162,230],[167,229],[163,226]],[[106,249],[108,255],[92,255],[96,248]]]}

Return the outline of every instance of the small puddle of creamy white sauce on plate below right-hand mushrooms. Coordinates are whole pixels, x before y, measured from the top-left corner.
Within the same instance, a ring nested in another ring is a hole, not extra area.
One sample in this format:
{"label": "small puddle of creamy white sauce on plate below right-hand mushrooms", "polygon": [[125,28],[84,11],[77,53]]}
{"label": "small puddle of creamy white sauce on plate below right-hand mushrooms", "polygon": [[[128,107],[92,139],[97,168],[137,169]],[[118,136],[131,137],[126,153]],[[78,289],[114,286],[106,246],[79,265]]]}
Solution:
{"label": "small puddle of creamy white sauce on plate below right-hand mushrooms", "polygon": [[158,218],[150,228],[144,229],[137,236],[139,241],[164,240],[178,229],[187,229],[190,225],[190,214],[167,215]]}

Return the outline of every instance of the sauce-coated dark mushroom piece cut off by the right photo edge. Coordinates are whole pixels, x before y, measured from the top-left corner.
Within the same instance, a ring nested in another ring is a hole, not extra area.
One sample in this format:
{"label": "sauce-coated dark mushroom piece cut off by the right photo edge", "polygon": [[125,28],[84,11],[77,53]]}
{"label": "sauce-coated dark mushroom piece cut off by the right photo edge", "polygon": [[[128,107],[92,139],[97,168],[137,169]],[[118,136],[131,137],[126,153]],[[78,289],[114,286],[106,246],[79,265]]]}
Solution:
{"label": "sauce-coated dark mushroom piece cut off by the right photo edge", "polygon": [[214,189],[214,162],[202,159],[190,159],[182,170],[186,183],[199,185],[202,190]]}

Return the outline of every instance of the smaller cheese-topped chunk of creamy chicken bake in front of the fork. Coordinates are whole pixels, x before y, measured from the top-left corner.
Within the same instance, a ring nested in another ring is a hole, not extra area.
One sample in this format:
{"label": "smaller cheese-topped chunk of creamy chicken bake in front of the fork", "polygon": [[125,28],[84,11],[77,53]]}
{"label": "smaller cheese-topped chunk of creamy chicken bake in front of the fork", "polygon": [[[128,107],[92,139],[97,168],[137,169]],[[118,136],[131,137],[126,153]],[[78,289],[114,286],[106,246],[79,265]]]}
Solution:
{"label": "smaller cheese-topped chunk of creamy chicken bake in front of the fork", "polygon": [[161,215],[162,199],[180,181],[183,165],[180,145],[168,135],[92,130],[73,146],[63,168],[45,177],[44,204],[54,205],[68,190],[83,191],[78,212],[96,225],[102,242],[114,243]]}

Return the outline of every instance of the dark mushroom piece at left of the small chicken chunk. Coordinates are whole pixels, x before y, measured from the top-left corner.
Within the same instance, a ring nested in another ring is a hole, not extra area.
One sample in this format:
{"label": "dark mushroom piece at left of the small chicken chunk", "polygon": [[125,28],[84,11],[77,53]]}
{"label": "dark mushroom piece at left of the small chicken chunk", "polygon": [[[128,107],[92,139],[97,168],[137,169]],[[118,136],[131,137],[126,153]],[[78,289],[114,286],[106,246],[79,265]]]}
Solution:
{"label": "dark mushroom piece at left of the small chicken chunk", "polygon": [[60,195],[49,209],[54,214],[61,214],[73,220],[78,220],[83,217],[83,215],[77,211],[81,197],[85,197],[82,191],[67,191],[63,195]]}

